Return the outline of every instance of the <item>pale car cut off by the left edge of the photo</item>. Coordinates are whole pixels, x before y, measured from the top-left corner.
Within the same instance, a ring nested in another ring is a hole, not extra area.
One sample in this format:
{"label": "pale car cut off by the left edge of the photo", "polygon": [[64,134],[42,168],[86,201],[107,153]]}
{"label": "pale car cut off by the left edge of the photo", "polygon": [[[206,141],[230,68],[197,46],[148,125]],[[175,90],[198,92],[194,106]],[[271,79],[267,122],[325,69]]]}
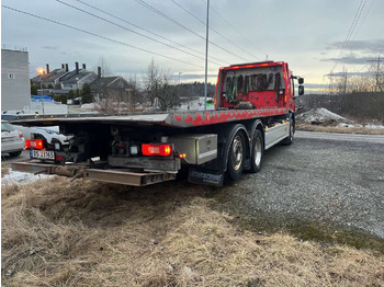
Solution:
{"label": "pale car cut off by the left edge of the photo", "polygon": [[9,153],[11,157],[19,157],[24,146],[23,134],[7,120],[1,120],[1,154]]}

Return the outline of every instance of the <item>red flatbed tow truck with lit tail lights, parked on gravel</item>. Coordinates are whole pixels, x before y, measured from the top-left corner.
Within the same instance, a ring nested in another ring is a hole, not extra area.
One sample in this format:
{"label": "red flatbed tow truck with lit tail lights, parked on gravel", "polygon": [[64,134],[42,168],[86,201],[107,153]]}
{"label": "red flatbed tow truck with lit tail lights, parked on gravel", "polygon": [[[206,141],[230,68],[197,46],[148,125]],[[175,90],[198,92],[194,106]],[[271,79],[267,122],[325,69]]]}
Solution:
{"label": "red flatbed tow truck with lit tail lights, parked on gravel", "polygon": [[59,126],[63,145],[34,138],[31,160],[14,170],[126,185],[174,180],[188,169],[193,183],[221,186],[261,169],[264,150],[291,145],[295,133],[295,80],[284,61],[233,65],[218,71],[213,111],[14,120]]}

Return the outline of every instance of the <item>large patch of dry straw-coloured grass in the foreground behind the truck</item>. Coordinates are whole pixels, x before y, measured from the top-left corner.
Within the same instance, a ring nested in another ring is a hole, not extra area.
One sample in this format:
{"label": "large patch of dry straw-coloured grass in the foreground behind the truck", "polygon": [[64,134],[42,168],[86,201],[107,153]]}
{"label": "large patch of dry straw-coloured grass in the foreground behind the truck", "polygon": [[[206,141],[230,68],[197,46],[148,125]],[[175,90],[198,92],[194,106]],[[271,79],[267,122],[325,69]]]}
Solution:
{"label": "large patch of dry straw-coloured grass in the foreground behind the truck", "polygon": [[244,231],[184,188],[3,186],[3,285],[384,286],[382,255]]}

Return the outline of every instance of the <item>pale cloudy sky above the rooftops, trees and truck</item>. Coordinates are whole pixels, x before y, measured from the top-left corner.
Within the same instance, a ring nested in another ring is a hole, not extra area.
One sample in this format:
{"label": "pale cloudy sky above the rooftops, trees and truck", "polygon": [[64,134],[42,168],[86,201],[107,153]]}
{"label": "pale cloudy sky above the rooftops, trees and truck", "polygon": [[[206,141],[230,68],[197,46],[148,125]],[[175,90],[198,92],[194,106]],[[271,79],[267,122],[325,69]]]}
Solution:
{"label": "pale cloudy sky above the rooftops, trees and truck", "polygon": [[[182,81],[204,80],[206,0],[2,0],[2,45],[27,48],[31,76],[45,64],[74,68],[79,61],[91,69],[103,57],[113,73],[125,77],[143,73],[154,59],[176,78],[181,72]],[[308,88],[321,87],[330,70],[359,72],[384,56],[383,0],[211,0],[210,12],[212,82],[222,66],[268,57],[287,61]]]}

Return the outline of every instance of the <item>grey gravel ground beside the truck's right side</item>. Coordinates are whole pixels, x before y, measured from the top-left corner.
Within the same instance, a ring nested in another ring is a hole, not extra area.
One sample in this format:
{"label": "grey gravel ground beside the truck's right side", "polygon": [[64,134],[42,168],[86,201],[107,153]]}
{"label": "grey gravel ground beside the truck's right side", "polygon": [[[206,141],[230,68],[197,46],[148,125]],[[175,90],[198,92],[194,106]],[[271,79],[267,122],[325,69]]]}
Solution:
{"label": "grey gravel ground beside the truck's right side", "polygon": [[267,151],[260,173],[245,175],[217,197],[266,223],[310,220],[384,238],[383,148],[369,140],[296,138]]}

